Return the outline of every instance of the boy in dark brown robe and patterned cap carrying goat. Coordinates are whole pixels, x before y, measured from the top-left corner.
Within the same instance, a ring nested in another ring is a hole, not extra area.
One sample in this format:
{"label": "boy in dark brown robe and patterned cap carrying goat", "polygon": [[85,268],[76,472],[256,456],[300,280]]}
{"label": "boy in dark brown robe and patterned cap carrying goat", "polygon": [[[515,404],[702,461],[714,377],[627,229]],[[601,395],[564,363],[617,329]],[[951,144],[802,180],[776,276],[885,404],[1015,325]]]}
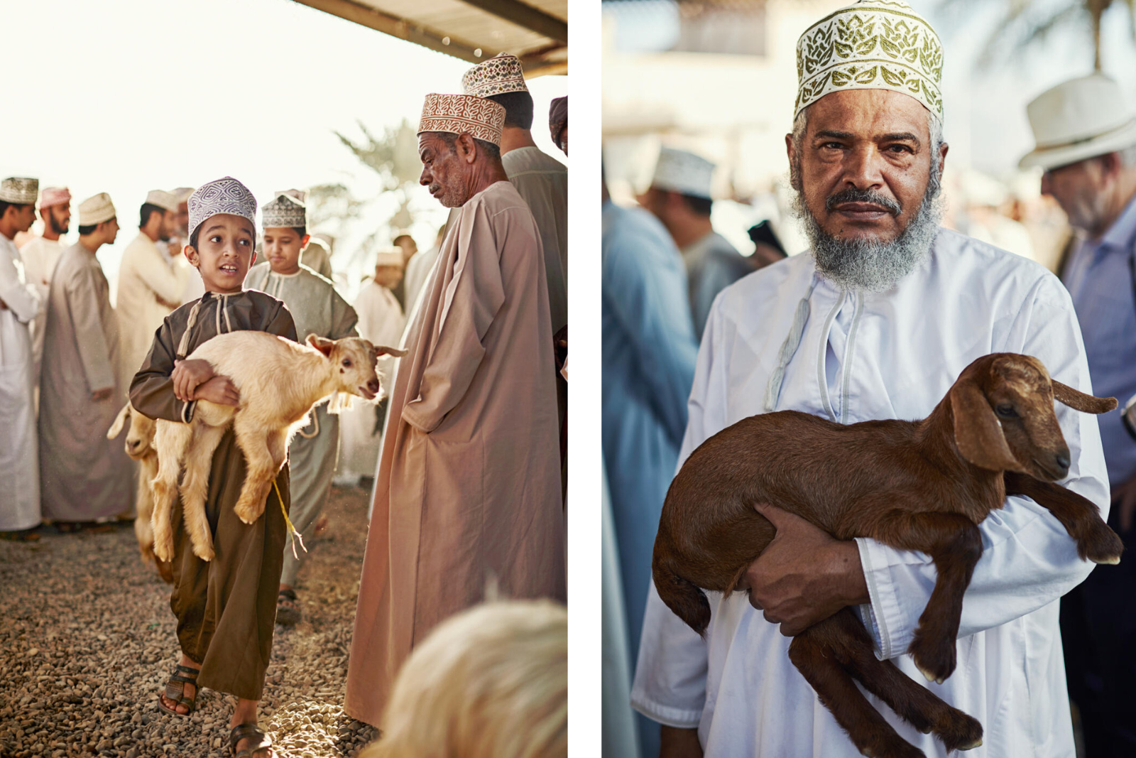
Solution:
{"label": "boy in dark brown robe and patterned cap carrying goat", "polygon": [[[252,193],[225,177],[198,189],[189,206],[185,257],[201,274],[206,294],[166,317],[131,384],[131,405],[139,413],[184,424],[193,420],[203,400],[231,407],[240,400],[227,376],[215,374],[208,361],[186,359],[199,345],[218,334],[240,331],[296,339],[284,303],[262,292],[242,290],[257,239]],[[233,506],[248,472],[236,435],[228,428],[217,441],[206,485],[204,511],[216,557],[202,560],[194,555],[186,530],[173,532],[169,606],[177,616],[182,658],[159,707],[189,716],[198,686],[234,694],[237,705],[229,735],[234,752],[267,758],[272,741],[257,726],[257,701],[272,652],[286,527],[284,513],[275,502],[251,524],[236,515]],[[286,465],[275,480],[287,508]],[[275,492],[272,499],[275,501]],[[170,523],[182,520],[182,505],[175,498]]]}

